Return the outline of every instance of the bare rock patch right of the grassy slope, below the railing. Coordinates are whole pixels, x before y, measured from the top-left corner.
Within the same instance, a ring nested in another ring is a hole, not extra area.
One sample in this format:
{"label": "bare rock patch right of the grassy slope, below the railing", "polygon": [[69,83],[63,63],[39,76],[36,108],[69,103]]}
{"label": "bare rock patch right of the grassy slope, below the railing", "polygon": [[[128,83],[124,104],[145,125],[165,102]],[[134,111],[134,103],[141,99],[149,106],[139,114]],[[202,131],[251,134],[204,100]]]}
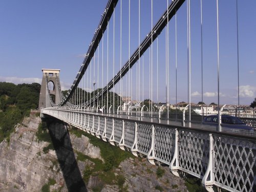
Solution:
{"label": "bare rock patch right of the grassy slope, below the railing", "polygon": [[185,181],[171,174],[168,166],[161,167],[164,170],[161,177],[157,177],[157,168],[146,159],[129,158],[120,163],[115,173],[125,177],[128,191],[158,191],[157,186],[163,191],[187,191]]}

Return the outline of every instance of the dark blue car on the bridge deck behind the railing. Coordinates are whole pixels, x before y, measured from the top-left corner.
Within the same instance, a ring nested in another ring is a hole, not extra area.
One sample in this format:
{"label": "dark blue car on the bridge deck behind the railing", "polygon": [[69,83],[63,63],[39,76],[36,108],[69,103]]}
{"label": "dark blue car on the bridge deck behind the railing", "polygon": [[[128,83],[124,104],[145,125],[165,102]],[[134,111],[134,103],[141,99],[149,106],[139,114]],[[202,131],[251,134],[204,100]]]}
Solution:
{"label": "dark blue car on the bridge deck behind the railing", "polygon": [[[218,126],[218,115],[208,115],[204,118],[203,124]],[[230,129],[254,130],[253,127],[247,126],[239,118],[231,115],[221,115],[221,126]]]}

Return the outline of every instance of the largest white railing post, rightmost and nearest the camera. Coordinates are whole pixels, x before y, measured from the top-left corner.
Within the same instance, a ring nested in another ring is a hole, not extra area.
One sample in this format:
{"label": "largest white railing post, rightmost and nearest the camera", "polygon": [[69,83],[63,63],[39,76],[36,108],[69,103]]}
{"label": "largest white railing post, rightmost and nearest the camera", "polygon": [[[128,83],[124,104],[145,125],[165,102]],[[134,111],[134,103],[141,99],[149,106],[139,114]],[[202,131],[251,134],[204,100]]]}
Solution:
{"label": "largest white railing post, rightmost and nearest the camera", "polygon": [[209,162],[206,173],[202,179],[202,185],[206,188],[207,191],[213,192],[214,189],[214,137],[212,134],[209,134]]}

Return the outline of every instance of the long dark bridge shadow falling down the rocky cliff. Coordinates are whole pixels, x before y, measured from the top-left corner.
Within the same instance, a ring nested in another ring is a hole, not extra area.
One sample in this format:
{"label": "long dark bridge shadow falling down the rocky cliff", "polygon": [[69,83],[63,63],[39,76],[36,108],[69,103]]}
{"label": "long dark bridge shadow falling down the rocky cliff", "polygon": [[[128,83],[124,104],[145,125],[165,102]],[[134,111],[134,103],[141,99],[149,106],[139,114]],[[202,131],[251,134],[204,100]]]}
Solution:
{"label": "long dark bridge shadow falling down the rocky cliff", "polygon": [[55,118],[45,119],[69,191],[87,191],[78,168],[66,123]]}

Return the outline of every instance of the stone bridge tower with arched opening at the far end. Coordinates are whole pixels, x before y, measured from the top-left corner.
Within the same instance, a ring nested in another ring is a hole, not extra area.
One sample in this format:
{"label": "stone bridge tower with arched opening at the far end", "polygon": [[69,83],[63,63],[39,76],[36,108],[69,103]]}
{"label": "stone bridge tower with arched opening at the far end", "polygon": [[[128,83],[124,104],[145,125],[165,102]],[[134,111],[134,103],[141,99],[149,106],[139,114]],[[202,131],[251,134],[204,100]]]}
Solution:
{"label": "stone bridge tower with arched opening at the far end", "polygon": [[[55,104],[61,101],[60,81],[58,69],[42,69],[42,83],[39,96],[38,110],[49,108],[51,106],[47,86],[50,91],[50,97]],[[59,87],[59,88],[58,88]]]}

